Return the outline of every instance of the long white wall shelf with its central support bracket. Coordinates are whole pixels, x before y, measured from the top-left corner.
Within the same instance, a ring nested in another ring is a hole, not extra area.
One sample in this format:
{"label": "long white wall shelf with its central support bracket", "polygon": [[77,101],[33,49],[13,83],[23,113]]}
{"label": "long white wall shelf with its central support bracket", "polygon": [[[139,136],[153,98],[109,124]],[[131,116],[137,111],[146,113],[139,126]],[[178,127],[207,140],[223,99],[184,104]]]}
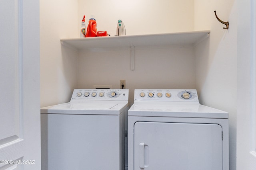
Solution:
{"label": "long white wall shelf with its central support bracket", "polygon": [[210,35],[210,30],[151,35],[123,35],[60,39],[61,44],[76,51],[80,49],[131,49],[131,70],[134,70],[134,47],[160,45],[196,45]]}

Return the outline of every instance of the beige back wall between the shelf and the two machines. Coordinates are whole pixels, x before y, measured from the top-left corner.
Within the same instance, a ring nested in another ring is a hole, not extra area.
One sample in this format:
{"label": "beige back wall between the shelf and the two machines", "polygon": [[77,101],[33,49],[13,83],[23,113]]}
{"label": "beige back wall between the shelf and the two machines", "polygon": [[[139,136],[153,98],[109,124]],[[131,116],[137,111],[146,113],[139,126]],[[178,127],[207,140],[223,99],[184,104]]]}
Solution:
{"label": "beige back wall between the shelf and the two machines", "polygon": [[125,79],[130,104],[136,88],[195,88],[193,47],[139,47],[134,55],[135,69],[131,70],[130,49],[79,51],[78,88],[119,88],[120,79]]}

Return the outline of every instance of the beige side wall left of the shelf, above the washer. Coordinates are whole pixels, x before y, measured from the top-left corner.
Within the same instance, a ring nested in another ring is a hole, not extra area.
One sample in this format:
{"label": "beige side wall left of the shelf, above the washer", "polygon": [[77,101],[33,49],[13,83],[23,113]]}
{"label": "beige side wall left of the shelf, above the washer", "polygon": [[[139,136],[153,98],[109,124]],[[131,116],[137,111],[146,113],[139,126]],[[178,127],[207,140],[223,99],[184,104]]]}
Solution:
{"label": "beige side wall left of the shelf, above the washer", "polygon": [[76,88],[77,52],[60,38],[77,35],[77,0],[40,0],[41,107],[70,100]]}

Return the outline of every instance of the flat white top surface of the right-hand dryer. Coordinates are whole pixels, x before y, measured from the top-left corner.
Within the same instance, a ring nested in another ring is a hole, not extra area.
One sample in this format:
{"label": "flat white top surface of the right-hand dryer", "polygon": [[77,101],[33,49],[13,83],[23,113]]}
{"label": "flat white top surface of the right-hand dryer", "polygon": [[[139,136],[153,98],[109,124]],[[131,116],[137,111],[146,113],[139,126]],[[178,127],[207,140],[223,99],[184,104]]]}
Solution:
{"label": "flat white top surface of the right-hand dryer", "polygon": [[128,116],[228,119],[228,113],[225,111],[188,102],[134,102],[128,110]]}

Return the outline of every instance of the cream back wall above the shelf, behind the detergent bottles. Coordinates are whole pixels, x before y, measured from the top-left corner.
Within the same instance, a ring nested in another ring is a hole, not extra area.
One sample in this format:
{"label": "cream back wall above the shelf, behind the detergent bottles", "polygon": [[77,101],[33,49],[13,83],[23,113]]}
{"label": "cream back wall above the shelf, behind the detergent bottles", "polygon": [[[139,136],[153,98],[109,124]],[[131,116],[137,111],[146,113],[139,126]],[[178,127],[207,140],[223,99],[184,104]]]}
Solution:
{"label": "cream back wall above the shelf, behind the detergent bottles", "polygon": [[125,24],[126,35],[192,31],[194,0],[78,0],[79,28],[84,15],[86,23],[95,16],[98,30],[111,36],[116,35],[119,19]]}

